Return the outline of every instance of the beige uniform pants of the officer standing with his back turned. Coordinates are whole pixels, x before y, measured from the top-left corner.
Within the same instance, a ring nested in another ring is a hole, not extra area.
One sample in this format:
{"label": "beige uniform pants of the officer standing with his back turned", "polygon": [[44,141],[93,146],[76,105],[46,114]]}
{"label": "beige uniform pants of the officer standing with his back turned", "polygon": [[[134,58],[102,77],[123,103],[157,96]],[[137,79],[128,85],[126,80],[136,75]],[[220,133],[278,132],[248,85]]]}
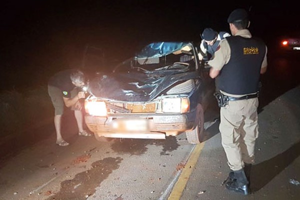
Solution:
{"label": "beige uniform pants of the officer standing with his back turned", "polygon": [[254,145],[258,137],[258,98],[229,101],[220,108],[222,146],[231,170],[239,170],[244,163],[254,163]]}

